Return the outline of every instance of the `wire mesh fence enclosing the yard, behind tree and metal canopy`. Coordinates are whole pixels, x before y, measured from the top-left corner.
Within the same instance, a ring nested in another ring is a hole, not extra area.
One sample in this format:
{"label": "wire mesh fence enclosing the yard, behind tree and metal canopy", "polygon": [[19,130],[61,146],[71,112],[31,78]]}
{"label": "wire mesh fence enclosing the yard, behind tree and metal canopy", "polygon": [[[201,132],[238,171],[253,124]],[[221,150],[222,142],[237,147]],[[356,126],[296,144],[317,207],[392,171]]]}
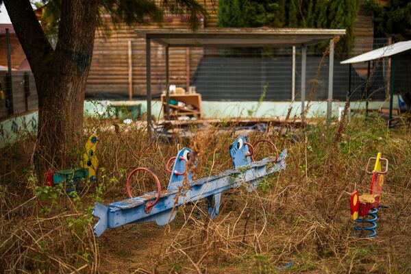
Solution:
{"label": "wire mesh fence enclosing the yard, behind tree and metal canopy", "polygon": [[[357,39],[350,55],[358,55],[388,44],[388,38]],[[5,36],[0,34],[0,83],[3,92],[8,90],[7,55]],[[96,38],[86,97],[93,99],[127,99],[130,85],[133,99],[146,96],[146,45],[145,40],[132,33],[127,36]],[[34,77],[15,34],[10,35],[12,52],[12,104],[13,114],[34,110],[38,98]],[[327,99],[328,58],[321,52],[309,51],[306,69],[306,98],[314,101]],[[159,98],[166,89],[165,48],[151,44],[151,83],[153,98]],[[340,64],[347,58],[334,60],[334,97],[345,101],[351,90],[351,100],[388,98],[390,65],[388,58],[370,63],[367,84],[367,64]],[[321,62],[322,60],[322,62]],[[395,92],[407,94],[411,79],[410,53],[392,58],[395,74]],[[296,51],[295,100],[301,91],[301,49]],[[318,77],[316,71],[319,69]],[[25,76],[26,74],[26,76]],[[28,74],[28,76],[27,76]],[[349,75],[351,74],[351,88]],[[28,82],[28,85],[25,84]],[[312,92],[312,84],[316,88]],[[195,86],[203,100],[207,101],[290,101],[292,99],[292,49],[264,48],[170,48],[169,84],[188,89]],[[27,88],[28,87],[28,88]],[[366,88],[367,87],[367,88]],[[10,101],[10,97],[8,97]],[[0,119],[10,116],[6,101],[0,101]]]}

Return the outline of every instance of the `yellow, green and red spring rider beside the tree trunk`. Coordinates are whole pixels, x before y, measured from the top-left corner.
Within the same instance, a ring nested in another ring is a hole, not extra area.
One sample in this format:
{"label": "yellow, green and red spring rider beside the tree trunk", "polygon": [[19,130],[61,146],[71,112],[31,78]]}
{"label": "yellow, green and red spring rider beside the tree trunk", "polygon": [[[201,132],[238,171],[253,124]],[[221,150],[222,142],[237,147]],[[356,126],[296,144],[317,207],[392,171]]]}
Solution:
{"label": "yellow, green and red spring rider beside the tree trunk", "polygon": [[81,190],[80,181],[96,182],[96,171],[99,165],[99,160],[95,154],[97,142],[98,139],[96,135],[88,138],[84,146],[86,150],[84,151],[78,168],[64,169],[62,171],[53,171],[53,169],[50,169],[47,171],[47,173],[45,173],[46,186],[65,184],[67,194],[73,196],[75,192],[80,192]]}

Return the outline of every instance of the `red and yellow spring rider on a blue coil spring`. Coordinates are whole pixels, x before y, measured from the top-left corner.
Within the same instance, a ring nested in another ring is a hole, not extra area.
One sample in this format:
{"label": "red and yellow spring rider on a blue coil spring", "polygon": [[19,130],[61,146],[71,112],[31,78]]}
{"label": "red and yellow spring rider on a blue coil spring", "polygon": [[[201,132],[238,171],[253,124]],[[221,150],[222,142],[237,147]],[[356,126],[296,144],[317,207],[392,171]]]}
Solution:
{"label": "red and yellow spring rider on a blue coil spring", "polygon": [[[372,160],[375,160],[374,170],[369,171],[369,165]],[[385,162],[385,169],[382,171],[382,162]],[[377,212],[378,208],[381,208],[381,195],[382,186],[384,185],[384,175],[388,172],[388,160],[381,158],[381,153],[377,154],[377,157],[369,158],[366,168],[366,173],[373,175],[371,177],[370,193],[359,195],[358,191],[351,193],[351,220],[361,223],[361,226],[355,226],[354,229],[358,231],[369,231],[371,234],[367,234],[367,237],[374,237],[377,235]],[[370,216],[371,218],[367,218]],[[371,226],[364,226],[369,224]]]}

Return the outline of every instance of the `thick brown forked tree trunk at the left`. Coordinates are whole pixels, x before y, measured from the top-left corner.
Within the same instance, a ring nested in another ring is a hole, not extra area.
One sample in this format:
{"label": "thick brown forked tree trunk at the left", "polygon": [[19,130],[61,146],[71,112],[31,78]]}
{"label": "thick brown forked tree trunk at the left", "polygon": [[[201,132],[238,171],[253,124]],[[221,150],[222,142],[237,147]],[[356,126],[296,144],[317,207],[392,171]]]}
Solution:
{"label": "thick brown forked tree trunk at the left", "polygon": [[62,1],[55,50],[29,0],[4,3],[36,80],[39,123],[34,164],[38,177],[42,177],[51,167],[66,168],[78,161],[98,0]]}

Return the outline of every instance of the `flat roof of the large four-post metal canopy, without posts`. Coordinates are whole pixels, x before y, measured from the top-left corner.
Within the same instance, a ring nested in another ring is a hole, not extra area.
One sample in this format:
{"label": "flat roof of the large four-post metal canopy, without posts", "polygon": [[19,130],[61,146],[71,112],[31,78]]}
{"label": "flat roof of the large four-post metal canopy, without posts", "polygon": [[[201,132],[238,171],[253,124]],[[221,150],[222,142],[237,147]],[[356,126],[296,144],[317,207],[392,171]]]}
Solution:
{"label": "flat roof of the large four-post metal canopy, without posts", "polygon": [[345,35],[345,29],[273,29],[273,28],[207,28],[136,29],[142,38],[169,47],[264,47],[311,45],[334,36]]}

